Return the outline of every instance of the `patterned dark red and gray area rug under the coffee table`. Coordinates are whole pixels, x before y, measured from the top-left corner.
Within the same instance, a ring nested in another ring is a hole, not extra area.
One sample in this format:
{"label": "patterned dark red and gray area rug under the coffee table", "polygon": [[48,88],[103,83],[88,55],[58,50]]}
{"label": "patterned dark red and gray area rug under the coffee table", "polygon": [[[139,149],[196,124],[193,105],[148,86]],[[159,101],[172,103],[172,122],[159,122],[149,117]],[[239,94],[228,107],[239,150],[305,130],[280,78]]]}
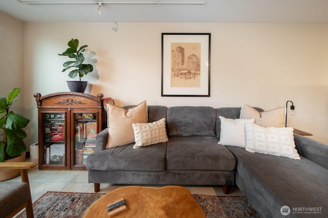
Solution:
{"label": "patterned dark red and gray area rug under the coffee table", "polygon": [[[86,209],[104,193],[76,193],[48,191],[33,203],[35,218],[80,218]],[[207,217],[259,217],[242,196],[193,195]],[[26,217],[25,211],[18,218]]]}

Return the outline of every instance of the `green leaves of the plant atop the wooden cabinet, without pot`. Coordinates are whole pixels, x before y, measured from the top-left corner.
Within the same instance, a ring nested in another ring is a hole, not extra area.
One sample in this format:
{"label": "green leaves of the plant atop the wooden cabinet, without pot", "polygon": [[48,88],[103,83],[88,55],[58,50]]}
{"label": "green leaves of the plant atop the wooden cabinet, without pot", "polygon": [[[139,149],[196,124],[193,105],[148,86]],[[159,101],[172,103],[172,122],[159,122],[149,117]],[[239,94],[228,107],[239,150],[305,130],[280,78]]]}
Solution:
{"label": "green leaves of the plant atop the wooden cabinet, without pot", "polygon": [[77,69],[73,69],[69,72],[68,76],[70,78],[75,78],[77,75],[79,76],[79,79],[81,81],[81,77],[89,74],[89,72],[93,71],[93,66],[91,64],[84,64],[84,55],[83,52],[86,51],[86,47],[88,45],[82,45],[78,49],[78,40],[77,39],[71,39],[68,42],[69,48],[63,52],[62,54],[58,54],[59,56],[67,56],[69,58],[75,59],[75,61],[67,61],[63,64],[64,69],[62,72],[65,72],[66,70],[75,67]]}

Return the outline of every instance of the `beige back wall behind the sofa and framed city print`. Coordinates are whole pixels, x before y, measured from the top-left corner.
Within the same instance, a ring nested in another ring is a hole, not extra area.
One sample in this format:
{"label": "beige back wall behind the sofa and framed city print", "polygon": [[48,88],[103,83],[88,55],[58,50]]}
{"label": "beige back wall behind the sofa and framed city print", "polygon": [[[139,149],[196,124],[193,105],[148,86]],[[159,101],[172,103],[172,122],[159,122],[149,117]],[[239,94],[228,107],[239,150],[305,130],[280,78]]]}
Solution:
{"label": "beige back wall behind the sofa and framed city print", "polygon": [[[328,25],[233,23],[26,23],[24,108],[37,132],[33,93],[68,91],[61,72],[71,38],[95,52],[87,93],[116,105],[191,105],[270,110],[291,100],[288,126],[328,143]],[[211,97],[161,97],[161,33],[211,33]],[[30,136],[31,142],[37,135]]]}

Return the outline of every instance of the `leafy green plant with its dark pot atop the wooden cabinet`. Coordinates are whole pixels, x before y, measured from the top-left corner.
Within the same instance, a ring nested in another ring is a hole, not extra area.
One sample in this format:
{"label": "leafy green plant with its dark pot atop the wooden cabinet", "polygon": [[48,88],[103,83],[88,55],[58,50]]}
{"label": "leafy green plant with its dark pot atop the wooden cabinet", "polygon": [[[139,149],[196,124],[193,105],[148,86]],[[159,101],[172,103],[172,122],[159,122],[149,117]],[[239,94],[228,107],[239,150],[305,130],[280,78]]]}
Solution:
{"label": "leafy green plant with its dark pot atop the wooden cabinet", "polygon": [[91,64],[84,64],[85,58],[83,55],[83,52],[86,51],[86,47],[88,45],[83,45],[78,49],[78,40],[77,39],[71,39],[68,42],[69,48],[63,52],[62,54],[58,54],[59,56],[67,56],[69,58],[75,59],[74,61],[67,61],[63,64],[64,69],[62,72],[65,72],[66,70],[75,67],[75,69],[71,70],[68,73],[68,76],[70,78],[79,77],[79,81],[67,81],[68,87],[70,91],[75,92],[84,92],[88,82],[81,81],[81,77],[89,74],[89,72],[93,71],[93,66]]}

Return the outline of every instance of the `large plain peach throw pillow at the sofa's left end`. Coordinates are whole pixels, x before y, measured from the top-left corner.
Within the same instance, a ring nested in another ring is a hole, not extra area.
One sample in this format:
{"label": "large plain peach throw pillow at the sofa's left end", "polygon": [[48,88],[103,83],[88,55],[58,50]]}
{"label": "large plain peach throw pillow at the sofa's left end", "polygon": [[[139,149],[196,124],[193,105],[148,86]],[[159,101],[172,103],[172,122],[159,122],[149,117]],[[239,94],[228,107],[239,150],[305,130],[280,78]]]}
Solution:
{"label": "large plain peach throw pillow at the sofa's left end", "polygon": [[146,101],[128,110],[107,104],[108,143],[106,148],[124,146],[134,142],[132,124],[147,123]]}

